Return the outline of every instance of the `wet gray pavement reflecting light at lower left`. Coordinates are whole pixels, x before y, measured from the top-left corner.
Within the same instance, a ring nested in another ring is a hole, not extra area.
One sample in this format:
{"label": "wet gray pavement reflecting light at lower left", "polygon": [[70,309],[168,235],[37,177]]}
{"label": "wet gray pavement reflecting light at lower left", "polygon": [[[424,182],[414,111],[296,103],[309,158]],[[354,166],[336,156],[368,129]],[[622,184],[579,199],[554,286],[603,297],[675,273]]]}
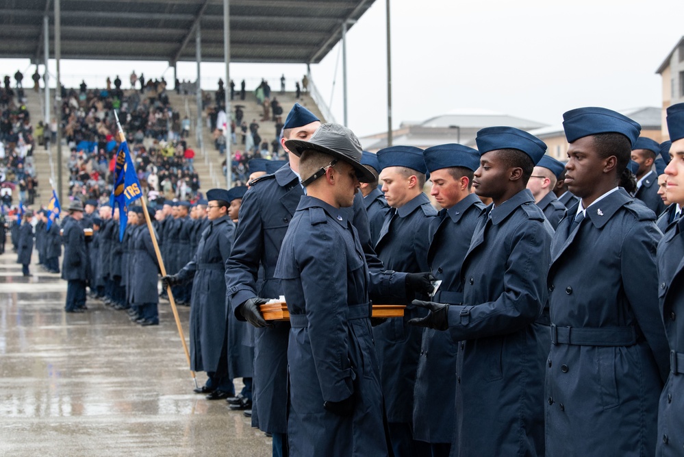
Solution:
{"label": "wet gray pavement reflecting light at lower left", "polygon": [[0,456],[270,455],[242,412],[192,392],[168,302],[156,327],[90,298],[66,314],[66,282],[15,260],[0,256]]}

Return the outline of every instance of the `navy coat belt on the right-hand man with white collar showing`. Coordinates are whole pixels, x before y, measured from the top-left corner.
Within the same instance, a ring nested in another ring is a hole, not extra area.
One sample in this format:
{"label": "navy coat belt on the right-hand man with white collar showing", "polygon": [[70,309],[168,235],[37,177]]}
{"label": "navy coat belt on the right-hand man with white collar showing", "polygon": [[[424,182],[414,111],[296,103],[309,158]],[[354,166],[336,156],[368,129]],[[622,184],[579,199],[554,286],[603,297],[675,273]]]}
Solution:
{"label": "navy coat belt on the right-hand man with white collar showing", "polygon": [[551,324],[551,344],[579,346],[631,346],[637,343],[637,328],[557,327]]}

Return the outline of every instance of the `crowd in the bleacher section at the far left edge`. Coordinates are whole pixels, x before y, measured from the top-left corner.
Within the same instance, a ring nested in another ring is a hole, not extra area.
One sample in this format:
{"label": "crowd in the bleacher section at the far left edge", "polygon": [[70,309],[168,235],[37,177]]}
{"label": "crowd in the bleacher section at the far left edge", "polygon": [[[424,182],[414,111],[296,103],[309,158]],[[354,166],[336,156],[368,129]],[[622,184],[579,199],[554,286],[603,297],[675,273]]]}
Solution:
{"label": "crowd in the bleacher section at the far left edge", "polygon": [[13,200],[15,204],[19,200],[31,204],[36,199],[38,180],[33,154],[38,143],[36,133],[42,136],[42,132],[42,123],[40,130],[34,132],[21,84],[12,88],[9,75],[5,75],[4,85],[0,87],[0,201],[3,207],[9,208]]}

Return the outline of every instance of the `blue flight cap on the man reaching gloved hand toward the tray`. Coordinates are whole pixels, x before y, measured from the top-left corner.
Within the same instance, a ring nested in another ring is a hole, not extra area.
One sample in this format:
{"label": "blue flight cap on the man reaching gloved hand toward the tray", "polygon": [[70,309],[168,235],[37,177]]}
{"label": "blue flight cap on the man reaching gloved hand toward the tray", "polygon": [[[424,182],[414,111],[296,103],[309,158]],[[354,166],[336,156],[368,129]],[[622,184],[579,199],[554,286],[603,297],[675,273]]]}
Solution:
{"label": "blue flight cap on the man reaching gloved hand toward the tray", "polygon": [[515,127],[485,127],[475,137],[480,155],[497,149],[518,149],[536,165],[546,152],[546,144],[534,135]]}

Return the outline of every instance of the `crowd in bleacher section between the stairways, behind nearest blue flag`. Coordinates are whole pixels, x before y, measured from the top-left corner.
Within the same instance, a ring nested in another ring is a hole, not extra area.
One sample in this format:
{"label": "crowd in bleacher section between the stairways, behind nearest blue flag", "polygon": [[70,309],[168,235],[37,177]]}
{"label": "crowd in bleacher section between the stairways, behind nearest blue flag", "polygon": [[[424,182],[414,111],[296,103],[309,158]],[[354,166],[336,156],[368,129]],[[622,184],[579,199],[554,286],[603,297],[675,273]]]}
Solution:
{"label": "crowd in bleacher section between the stairways, behind nearest blue flag", "polygon": [[63,97],[62,128],[71,149],[68,160],[69,195],[83,201],[106,201],[114,182],[118,127],[114,111],[127,134],[138,179],[150,199],[198,198],[199,176],[194,171],[194,151],[185,137],[187,118],[170,106],[166,82],[147,81],[141,90],[114,88],[69,90]]}

